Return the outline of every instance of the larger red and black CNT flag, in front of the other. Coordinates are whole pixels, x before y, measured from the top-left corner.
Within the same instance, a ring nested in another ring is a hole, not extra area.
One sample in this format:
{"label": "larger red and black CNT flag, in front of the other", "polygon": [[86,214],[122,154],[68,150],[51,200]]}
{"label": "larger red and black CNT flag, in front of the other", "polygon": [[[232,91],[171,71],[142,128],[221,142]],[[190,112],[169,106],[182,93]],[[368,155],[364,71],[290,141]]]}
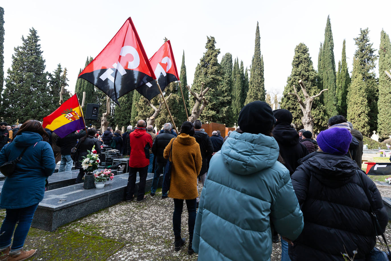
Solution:
{"label": "larger red and black CNT flag, in front of the other", "polygon": [[130,17],[79,78],[97,86],[116,103],[121,96],[156,79]]}

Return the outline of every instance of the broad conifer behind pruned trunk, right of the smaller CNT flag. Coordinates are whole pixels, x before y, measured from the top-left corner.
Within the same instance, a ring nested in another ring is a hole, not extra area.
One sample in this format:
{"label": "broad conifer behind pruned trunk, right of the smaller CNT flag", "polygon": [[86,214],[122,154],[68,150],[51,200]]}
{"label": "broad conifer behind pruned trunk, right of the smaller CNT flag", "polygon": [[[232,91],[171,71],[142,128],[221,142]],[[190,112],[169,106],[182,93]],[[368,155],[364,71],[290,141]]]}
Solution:
{"label": "broad conifer behind pruned trunk, right of the smaller CNT flag", "polygon": [[[224,77],[221,65],[217,61],[220,49],[215,48],[215,38],[207,37],[206,52],[195,68],[194,82],[192,88],[196,92],[201,89],[201,82],[205,83],[204,88],[209,87],[205,98],[209,101],[208,106],[201,113],[201,120],[217,122],[226,125],[233,124],[231,111],[231,95],[228,78]],[[190,107],[194,105],[194,97],[190,99]]]}

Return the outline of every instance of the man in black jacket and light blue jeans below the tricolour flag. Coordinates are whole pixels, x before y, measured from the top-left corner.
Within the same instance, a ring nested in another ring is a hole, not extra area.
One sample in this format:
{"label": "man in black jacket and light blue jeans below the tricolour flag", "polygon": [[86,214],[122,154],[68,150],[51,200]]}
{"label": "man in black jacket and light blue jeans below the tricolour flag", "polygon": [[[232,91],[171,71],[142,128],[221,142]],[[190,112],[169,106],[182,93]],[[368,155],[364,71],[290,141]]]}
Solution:
{"label": "man in black jacket and light blue jeans below the tricolour flag", "polygon": [[61,151],[61,164],[58,172],[70,171],[72,169],[71,149],[76,146],[77,140],[85,135],[85,131],[80,131],[79,133],[70,133],[62,139],[60,137],[57,138],[56,145],[60,147]]}

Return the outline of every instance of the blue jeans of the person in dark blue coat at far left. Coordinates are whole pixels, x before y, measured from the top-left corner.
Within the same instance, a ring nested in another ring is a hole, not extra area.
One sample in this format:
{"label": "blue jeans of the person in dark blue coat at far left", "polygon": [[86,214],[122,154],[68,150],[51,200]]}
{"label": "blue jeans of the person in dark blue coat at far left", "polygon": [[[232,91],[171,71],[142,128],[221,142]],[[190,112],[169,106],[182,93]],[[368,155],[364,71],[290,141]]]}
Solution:
{"label": "blue jeans of the person in dark blue coat at far left", "polygon": [[[0,249],[11,245],[12,235],[14,235],[14,241],[11,246],[11,251],[22,249],[37,207],[38,203],[30,207],[23,207],[22,209],[5,210],[5,218],[0,229]],[[18,221],[18,226],[15,229],[16,222]]]}

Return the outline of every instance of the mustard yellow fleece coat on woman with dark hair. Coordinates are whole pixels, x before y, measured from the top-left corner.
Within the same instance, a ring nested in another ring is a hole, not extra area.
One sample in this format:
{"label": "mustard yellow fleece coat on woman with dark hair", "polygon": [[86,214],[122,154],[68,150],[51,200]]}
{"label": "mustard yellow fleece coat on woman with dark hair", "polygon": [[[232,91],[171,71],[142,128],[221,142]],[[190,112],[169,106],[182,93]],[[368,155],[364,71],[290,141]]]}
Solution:
{"label": "mustard yellow fleece coat on woman with dark hair", "polygon": [[168,196],[183,200],[195,199],[198,196],[197,176],[202,166],[199,144],[194,137],[182,133],[170,140],[164,149],[164,158],[169,158],[171,144],[172,167]]}

